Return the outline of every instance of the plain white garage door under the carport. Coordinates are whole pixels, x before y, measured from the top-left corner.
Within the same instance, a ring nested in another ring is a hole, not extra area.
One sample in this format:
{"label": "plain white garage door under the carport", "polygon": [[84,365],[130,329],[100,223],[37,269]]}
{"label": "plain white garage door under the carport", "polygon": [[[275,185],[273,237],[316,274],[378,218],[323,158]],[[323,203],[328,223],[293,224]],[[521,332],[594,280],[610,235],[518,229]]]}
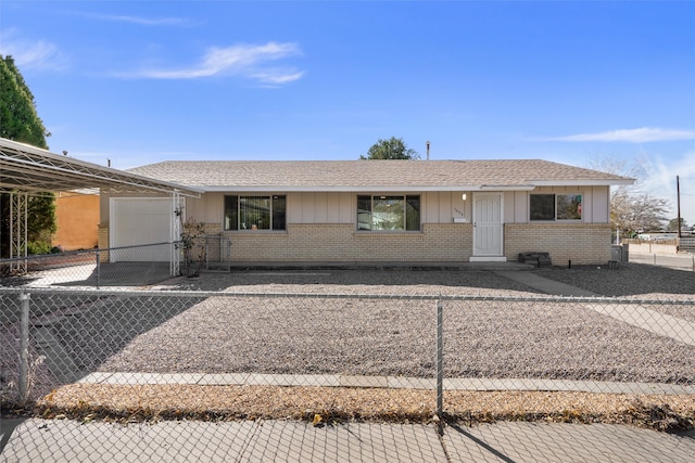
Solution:
{"label": "plain white garage door under the carport", "polygon": [[[170,198],[115,197],[110,204],[111,247],[168,243],[172,227]],[[170,245],[119,249],[111,261],[169,261]]]}

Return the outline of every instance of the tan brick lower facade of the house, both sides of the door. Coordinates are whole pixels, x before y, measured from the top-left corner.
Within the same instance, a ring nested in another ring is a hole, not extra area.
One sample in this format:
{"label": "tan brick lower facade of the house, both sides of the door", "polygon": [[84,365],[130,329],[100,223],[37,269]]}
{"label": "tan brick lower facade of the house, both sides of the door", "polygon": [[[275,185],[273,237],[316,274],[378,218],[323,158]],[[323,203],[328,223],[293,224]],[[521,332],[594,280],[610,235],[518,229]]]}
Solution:
{"label": "tan brick lower facade of the house, both sides of the door", "polygon": [[[609,224],[505,224],[505,256],[551,253],[554,265],[610,259]],[[421,233],[365,233],[352,224],[288,224],[287,232],[228,234],[236,262],[467,262],[470,223],[425,223]]]}

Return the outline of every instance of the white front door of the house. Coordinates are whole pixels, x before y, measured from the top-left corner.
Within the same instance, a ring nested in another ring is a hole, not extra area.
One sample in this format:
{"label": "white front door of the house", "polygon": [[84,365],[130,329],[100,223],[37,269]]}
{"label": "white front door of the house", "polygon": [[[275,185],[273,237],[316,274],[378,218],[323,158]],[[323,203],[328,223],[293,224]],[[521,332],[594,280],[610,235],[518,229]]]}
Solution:
{"label": "white front door of the house", "polygon": [[473,255],[470,260],[505,260],[502,193],[473,194]]}

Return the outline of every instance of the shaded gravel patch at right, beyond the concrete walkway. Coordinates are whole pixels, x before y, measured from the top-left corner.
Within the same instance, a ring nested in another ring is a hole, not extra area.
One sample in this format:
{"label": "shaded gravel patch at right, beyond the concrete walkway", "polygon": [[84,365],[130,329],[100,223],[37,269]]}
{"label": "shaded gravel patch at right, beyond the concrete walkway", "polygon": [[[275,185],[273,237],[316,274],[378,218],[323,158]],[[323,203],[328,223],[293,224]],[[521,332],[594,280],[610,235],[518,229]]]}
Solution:
{"label": "shaded gravel patch at right, beyond the concrete walkway", "polygon": [[695,272],[645,263],[620,262],[607,266],[577,266],[571,269],[533,270],[539,276],[589,290],[608,297],[648,294],[695,295]]}

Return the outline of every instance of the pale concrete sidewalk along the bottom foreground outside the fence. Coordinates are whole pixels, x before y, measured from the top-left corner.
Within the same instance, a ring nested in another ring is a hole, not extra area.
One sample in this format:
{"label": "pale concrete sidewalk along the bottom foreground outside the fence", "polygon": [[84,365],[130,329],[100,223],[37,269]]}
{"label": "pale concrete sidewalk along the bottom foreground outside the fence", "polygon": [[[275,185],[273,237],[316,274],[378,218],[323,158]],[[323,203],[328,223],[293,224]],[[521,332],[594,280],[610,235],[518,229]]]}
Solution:
{"label": "pale concrete sidewalk along the bottom foreground outside the fence", "polygon": [[4,420],[0,462],[692,462],[695,434],[622,425],[468,427],[296,421],[80,423]]}

